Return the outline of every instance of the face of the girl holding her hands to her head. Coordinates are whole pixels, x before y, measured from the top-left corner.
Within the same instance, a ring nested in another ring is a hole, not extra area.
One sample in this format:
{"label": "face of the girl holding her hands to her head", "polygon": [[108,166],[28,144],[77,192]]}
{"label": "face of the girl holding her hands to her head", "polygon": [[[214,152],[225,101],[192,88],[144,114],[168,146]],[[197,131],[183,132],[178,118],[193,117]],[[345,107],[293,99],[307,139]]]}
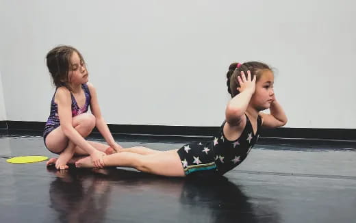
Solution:
{"label": "face of the girl holding her hands to her head", "polygon": [[255,93],[250,102],[257,111],[270,108],[270,104],[275,100],[275,92],[273,90],[274,81],[275,77],[272,71],[263,71],[256,83]]}

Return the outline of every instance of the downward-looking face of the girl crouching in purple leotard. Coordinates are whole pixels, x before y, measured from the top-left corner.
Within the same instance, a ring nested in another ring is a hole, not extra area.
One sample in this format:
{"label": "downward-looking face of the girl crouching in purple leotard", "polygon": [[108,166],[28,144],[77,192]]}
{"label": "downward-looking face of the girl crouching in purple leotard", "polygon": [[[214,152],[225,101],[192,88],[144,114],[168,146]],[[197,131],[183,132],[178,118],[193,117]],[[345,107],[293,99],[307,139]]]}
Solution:
{"label": "downward-looking face of the girl crouching in purple leotard", "polygon": [[77,52],[73,52],[71,56],[71,64],[69,64],[69,83],[72,85],[78,85],[88,82],[88,71],[86,70],[86,64],[80,59]]}

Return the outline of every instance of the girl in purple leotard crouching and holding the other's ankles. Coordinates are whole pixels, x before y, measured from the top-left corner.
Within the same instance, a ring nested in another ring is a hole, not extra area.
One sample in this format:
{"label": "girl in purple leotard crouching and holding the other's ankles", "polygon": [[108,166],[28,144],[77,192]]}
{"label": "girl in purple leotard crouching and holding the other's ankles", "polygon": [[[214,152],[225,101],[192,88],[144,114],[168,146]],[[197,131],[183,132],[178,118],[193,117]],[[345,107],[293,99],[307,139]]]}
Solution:
{"label": "girl in purple leotard crouching and holding the other's ankles", "polygon": [[[60,155],[58,159],[50,159],[47,166],[55,164],[57,169],[66,169],[74,155],[90,155],[94,166],[103,167],[101,157],[120,150],[121,146],[101,116],[97,92],[88,83],[88,70],[81,53],[73,47],[60,46],[49,51],[46,59],[56,89],[43,139],[52,153]],[[109,146],[84,139],[94,127]]]}

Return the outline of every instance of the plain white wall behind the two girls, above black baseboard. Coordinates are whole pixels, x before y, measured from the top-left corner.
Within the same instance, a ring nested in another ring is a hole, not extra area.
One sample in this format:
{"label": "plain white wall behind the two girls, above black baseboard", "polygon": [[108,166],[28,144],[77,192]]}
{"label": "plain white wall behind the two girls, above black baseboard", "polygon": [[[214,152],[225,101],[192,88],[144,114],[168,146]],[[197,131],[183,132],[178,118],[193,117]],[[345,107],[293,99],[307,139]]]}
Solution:
{"label": "plain white wall behind the two girls, above black baseboard", "polygon": [[44,55],[84,55],[114,124],[218,126],[231,62],[277,68],[287,127],[356,128],[355,1],[0,0],[8,120],[44,121]]}

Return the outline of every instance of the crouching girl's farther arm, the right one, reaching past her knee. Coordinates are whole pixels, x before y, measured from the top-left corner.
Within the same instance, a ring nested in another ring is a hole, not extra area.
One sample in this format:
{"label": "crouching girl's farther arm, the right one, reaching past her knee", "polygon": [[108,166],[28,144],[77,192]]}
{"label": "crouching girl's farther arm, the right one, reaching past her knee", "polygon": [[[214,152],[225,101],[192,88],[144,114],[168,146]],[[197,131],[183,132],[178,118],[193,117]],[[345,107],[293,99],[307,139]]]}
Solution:
{"label": "crouching girl's farther arm, the right one, reaching past her knee", "polygon": [[120,150],[122,147],[115,142],[114,137],[112,137],[112,133],[110,132],[109,127],[107,127],[107,124],[106,124],[103,116],[101,116],[101,111],[100,111],[98,97],[97,97],[97,91],[95,90],[94,86],[92,86],[91,83],[87,83],[87,85],[90,90],[90,96],[92,97],[92,99],[90,101],[90,109],[92,111],[92,114],[96,118],[95,125],[97,126],[97,129],[99,130],[101,135],[103,135],[107,144],[109,144],[112,148],[114,148],[114,150],[116,150],[116,152],[118,152],[118,150]]}

